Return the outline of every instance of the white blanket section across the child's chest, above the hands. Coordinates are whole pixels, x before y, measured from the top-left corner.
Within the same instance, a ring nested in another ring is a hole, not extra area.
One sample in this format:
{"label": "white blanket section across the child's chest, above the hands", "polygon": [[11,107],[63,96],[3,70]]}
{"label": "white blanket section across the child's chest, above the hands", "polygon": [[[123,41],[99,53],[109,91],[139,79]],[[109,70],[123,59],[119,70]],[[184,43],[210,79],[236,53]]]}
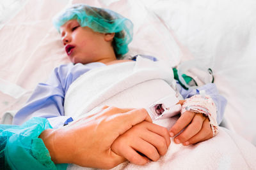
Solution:
{"label": "white blanket section across the child's chest, above the hands", "polygon": [[143,57],[138,57],[136,62],[99,67],[70,85],[65,95],[65,115],[81,118],[84,113],[101,105],[147,108],[166,96],[173,96],[172,106],[178,102],[176,92],[170,87],[173,81],[169,65]]}

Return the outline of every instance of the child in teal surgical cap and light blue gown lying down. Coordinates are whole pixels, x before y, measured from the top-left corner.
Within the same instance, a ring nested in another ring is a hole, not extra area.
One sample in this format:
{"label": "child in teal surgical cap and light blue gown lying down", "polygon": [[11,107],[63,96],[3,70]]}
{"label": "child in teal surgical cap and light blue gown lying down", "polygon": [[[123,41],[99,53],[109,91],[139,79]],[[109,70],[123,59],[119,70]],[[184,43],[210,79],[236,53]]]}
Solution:
{"label": "child in teal surgical cap and light blue gown lying down", "polygon": [[[132,22],[113,11],[79,4],[61,13],[55,20],[55,25],[58,31],[60,31],[61,40],[72,64],[57,67],[46,83],[38,84],[26,106],[15,115],[13,124],[20,125],[31,117],[44,117],[49,120],[54,128],[68,129],[69,127],[74,127],[76,123],[70,124],[73,119],[72,117],[65,116],[63,108],[65,94],[70,84],[82,74],[97,67],[121,62],[134,62],[132,60],[120,60],[122,55],[128,52],[127,45],[132,40]],[[156,60],[154,57],[148,58]],[[216,87],[213,84],[204,85],[198,88],[198,90],[179,89],[180,94],[185,99],[191,96],[198,97],[198,92],[205,90],[207,99],[212,98],[214,101],[211,104],[217,110],[217,120],[218,124],[220,124],[226,101],[217,93]],[[192,101],[195,105],[196,97],[194,97],[194,101],[193,97],[189,98],[186,103],[188,104]],[[184,106],[186,105],[186,103],[183,104],[184,101],[179,103]],[[196,104],[204,105],[200,102]],[[104,108],[104,110],[106,109],[108,107]],[[124,157],[130,162],[142,165],[147,163],[148,160],[156,161],[160,155],[166,153],[170,145],[170,136],[174,137],[180,133],[175,137],[174,141],[183,145],[191,145],[210,139],[214,136],[216,124],[210,124],[211,118],[209,119],[207,116],[214,113],[199,111],[199,109],[200,107],[194,108],[194,110],[188,109],[188,107],[183,108],[183,114],[169,131],[164,127],[152,124],[150,121],[134,124],[131,129],[120,135],[113,142],[111,149],[117,155]],[[90,120],[90,117],[87,118]],[[63,125],[67,126],[63,127]],[[44,136],[48,135],[47,131],[44,131],[41,137],[44,138]],[[47,141],[44,142],[45,146],[47,146]],[[70,141],[70,143],[72,142],[74,141]],[[51,154],[50,149],[49,152]],[[73,155],[76,155],[76,153]],[[80,162],[77,161],[75,163],[81,166],[104,167],[99,164],[86,164],[83,162],[83,159],[81,158]],[[54,160],[54,162],[70,163],[68,160],[65,162]]]}

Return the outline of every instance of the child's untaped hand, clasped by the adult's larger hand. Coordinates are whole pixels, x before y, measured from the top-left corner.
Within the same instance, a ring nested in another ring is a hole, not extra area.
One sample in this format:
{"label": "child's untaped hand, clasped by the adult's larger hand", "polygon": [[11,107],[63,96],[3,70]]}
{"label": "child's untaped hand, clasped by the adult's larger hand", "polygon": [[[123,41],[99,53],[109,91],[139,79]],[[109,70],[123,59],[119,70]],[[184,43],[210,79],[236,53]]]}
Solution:
{"label": "child's untaped hand, clasped by the adult's larger hand", "polygon": [[111,149],[131,163],[143,165],[148,159],[158,160],[160,155],[167,152],[170,143],[170,136],[165,127],[144,121],[119,136]]}

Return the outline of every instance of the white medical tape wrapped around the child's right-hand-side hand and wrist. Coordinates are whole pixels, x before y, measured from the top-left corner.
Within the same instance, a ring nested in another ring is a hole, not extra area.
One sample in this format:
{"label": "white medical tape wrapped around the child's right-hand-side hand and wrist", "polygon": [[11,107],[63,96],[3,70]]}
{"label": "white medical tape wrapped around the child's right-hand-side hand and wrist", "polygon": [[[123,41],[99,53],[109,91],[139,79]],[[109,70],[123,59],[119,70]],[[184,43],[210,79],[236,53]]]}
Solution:
{"label": "white medical tape wrapped around the child's right-hand-side hand and wrist", "polygon": [[195,113],[204,114],[210,120],[213,136],[218,133],[218,123],[216,120],[217,110],[214,101],[210,96],[198,94],[189,97],[182,105],[181,114],[183,114],[185,111],[193,111]]}

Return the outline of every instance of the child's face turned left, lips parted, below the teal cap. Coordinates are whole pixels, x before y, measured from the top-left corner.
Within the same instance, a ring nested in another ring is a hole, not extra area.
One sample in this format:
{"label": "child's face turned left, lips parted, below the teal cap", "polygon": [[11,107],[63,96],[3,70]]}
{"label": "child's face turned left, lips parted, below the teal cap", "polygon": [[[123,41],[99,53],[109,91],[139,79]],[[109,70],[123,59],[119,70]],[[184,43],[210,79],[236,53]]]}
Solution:
{"label": "child's face turned left, lips parted, below the teal cap", "polygon": [[87,64],[106,59],[106,49],[111,41],[106,34],[81,27],[77,20],[69,20],[60,27],[61,40],[69,59],[74,63]]}

